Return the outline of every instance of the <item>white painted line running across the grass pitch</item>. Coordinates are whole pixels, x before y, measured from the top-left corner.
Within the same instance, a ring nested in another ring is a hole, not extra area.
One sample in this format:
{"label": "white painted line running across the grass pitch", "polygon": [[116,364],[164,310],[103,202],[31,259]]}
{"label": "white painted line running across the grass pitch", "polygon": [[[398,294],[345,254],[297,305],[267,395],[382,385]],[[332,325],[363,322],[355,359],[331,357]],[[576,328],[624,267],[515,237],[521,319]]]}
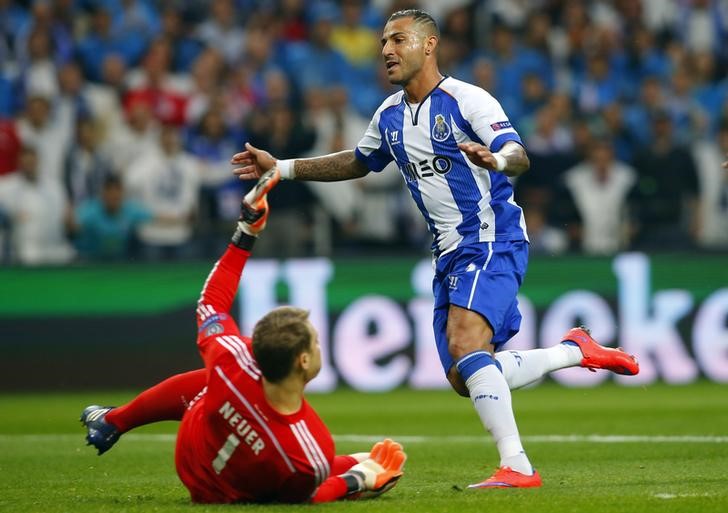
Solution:
{"label": "white painted line running across the grass pitch", "polygon": [[[43,441],[83,441],[84,434],[37,434],[37,435],[0,435],[0,442],[43,442]],[[479,443],[490,439],[486,435],[360,435],[346,434],[334,435],[337,442],[377,442],[387,437],[396,438],[402,443]],[[124,440],[139,442],[173,442],[177,439],[174,434],[137,434],[127,433]],[[725,444],[728,436],[709,435],[526,435],[521,440],[525,443],[700,443]]]}

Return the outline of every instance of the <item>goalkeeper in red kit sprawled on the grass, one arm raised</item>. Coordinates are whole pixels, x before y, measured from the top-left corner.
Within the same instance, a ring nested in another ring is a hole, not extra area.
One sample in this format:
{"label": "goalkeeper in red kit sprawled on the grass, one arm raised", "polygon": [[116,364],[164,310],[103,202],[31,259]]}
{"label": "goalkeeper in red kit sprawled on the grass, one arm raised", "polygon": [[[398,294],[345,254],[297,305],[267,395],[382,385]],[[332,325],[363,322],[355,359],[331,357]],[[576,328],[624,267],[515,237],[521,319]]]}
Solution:
{"label": "goalkeeper in red kit sprawled on the grass, one arm raised", "polygon": [[321,368],[308,312],[274,309],[255,325],[252,340],[229,314],[278,179],[272,169],[246,195],[232,242],[205,281],[197,306],[205,368],[173,376],[123,407],[89,406],[81,415],[99,454],[133,427],[181,419],[175,464],[194,502],[373,497],[402,476],[406,456],[389,439],[369,453],[334,456],[329,430],[303,395]]}

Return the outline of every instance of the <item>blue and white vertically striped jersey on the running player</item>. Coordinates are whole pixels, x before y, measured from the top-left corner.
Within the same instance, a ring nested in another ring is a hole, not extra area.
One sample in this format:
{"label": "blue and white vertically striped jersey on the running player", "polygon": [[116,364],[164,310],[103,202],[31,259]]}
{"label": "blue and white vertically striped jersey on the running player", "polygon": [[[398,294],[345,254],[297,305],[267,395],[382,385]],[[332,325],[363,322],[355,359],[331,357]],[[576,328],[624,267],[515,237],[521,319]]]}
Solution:
{"label": "blue and white vertically striped jersey on the running player", "polygon": [[528,240],[511,183],[470,162],[457,147],[469,141],[496,152],[521,138],[489,93],[445,77],[418,105],[403,91],[387,98],[356,148],[372,171],[396,162],[434,235],[435,256],[476,242]]}

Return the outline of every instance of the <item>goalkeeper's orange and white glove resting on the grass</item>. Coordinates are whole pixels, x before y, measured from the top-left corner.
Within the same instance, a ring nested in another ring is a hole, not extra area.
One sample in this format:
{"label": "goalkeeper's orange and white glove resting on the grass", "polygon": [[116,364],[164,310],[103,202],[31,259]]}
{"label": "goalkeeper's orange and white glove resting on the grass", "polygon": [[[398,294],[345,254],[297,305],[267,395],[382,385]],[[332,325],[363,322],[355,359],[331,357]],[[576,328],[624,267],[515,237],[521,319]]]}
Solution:
{"label": "goalkeeper's orange and white glove resting on the grass", "polygon": [[404,472],[407,455],[402,446],[387,438],[377,442],[369,458],[341,475],[348,486],[349,499],[369,499],[391,490]]}

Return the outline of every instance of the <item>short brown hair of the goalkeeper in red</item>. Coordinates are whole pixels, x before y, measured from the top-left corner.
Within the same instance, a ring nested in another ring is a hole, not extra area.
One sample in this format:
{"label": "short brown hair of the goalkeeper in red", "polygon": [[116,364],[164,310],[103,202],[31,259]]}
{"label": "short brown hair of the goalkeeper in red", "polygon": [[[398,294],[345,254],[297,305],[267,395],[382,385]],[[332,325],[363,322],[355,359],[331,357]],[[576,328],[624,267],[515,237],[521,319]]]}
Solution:
{"label": "short brown hair of the goalkeeper in red", "polygon": [[308,311],[293,306],[271,310],[253,328],[253,354],[265,379],[278,383],[298,355],[311,349]]}

